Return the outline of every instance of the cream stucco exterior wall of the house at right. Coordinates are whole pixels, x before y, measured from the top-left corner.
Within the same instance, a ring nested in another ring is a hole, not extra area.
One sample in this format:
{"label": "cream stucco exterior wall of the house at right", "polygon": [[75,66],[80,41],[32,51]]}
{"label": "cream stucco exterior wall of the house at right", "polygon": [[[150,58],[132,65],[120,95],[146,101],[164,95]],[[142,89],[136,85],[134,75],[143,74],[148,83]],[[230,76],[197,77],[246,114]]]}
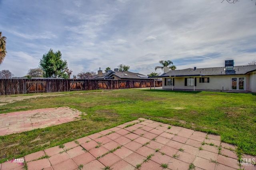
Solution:
{"label": "cream stucco exterior wall of the house at right", "polygon": [[[171,77],[170,77],[171,78]],[[186,77],[189,78],[189,77]],[[193,77],[191,77],[193,78]],[[188,90],[219,90],[219,91],[230,91],[235,90],[232,89],[232,85],[237,85],[236,90],[242,90],[239,89],[239,80],[244,81],[244,90],[256,92],[256,74],[247,74],[247,75],[219,75],[219,76],[202,76],[202,78],[205,78],[204,80],[201,79],[201,77],[196,77],[196,86],[185,86],[185,77],[175,77],[174,78],[174,86],[172,85],[165,85],[165,80],[163,80],[163,89],[188,89]],[[207,80],[208,78],[208,80]],[[232,78],[236,78],[236,82],[232,81]],[[239,79],[241,78],[241,79]],[[244,79],[242,79],[244,78]],[[204,81],[204,83],[202,82]],[[232,84],[233,83],[233,84]],[[253,86],[254,85],[254,86]]]}

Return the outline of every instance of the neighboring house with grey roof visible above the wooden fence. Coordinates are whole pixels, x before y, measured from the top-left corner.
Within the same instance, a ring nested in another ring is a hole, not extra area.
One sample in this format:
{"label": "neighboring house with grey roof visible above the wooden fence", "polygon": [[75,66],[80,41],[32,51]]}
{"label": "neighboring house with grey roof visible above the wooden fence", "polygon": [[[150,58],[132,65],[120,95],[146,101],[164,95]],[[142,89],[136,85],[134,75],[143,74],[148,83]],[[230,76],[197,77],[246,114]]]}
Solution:
{"label": "neighboring house with grey roof visible above the wooden fence", "polygon": [[98,71],[97,75],[94,75],[92,79],[95,80],[105,80],[105,79],[115,79],[115,80],[150,80],[147,75],[143,75],[140,73],[133,73],[130,71],[119,71],[118,69],[114,69],[114,71],[110,70],[108,73],[102,73],[102,70]]}

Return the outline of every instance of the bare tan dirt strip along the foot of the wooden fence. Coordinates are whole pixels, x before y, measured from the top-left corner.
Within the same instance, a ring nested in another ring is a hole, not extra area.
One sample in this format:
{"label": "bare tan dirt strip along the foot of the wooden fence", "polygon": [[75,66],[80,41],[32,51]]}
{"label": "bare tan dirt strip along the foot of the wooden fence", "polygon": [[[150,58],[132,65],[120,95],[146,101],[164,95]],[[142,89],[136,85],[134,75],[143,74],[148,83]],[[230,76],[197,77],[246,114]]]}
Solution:
{"label": "bare tan dirt strip along the foot of the wooden fence", "polygon": [[33,98],[37,98],[37,97],[62,96],[62,95],[64,95],[64,94],[55,94],[55,95],[45,94],[45,95],[32,95],[32,96],[0,97],[0,106],[7,105],[9,103],[14,103],[16,101],[22,101],[22,100],[26,100],[26,99],[33,99]]}

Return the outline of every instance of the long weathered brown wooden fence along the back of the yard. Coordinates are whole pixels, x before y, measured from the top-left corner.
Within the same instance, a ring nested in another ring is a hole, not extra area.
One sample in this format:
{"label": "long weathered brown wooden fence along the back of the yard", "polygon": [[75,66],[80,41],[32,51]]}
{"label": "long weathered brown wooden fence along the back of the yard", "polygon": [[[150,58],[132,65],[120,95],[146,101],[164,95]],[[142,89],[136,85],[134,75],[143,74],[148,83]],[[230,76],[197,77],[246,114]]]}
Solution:
{"label": "long weathered brown wooden fence along the back of the yard", "polygon": [[90,79],[0,79],[0,95],[50,93],[76,90],[161,87],[162,81]]}

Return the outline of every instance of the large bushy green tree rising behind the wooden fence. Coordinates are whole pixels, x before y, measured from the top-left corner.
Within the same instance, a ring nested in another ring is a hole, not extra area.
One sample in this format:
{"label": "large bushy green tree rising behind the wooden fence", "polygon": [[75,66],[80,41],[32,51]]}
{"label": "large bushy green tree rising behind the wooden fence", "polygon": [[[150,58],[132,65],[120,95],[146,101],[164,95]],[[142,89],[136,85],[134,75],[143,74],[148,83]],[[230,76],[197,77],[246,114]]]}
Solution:
{"label": "large bushy green tree rising behind the wooden fence", "polygon": [[48,53],[45,53],[40,59],[39,67],[44,71],[44,77],[62,77],[68,78],[65,73],[65,69],[68,68],[66,60],[61,59],[61,52],[53,52],[52,49]]}

